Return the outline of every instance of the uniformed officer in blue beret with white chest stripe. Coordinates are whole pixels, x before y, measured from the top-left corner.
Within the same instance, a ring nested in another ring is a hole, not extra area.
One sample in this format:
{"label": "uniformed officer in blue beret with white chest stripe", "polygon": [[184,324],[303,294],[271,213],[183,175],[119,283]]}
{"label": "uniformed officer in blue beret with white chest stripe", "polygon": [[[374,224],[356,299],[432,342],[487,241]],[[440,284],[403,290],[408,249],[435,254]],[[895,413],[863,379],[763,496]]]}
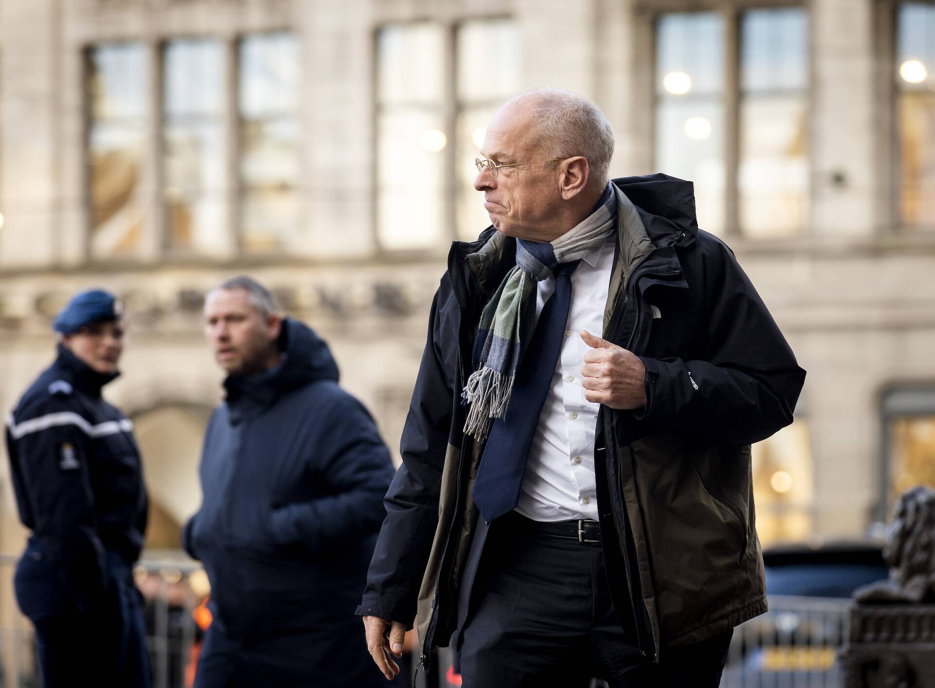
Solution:
{"label": "uniformed officer in blue beret with white chest stripe", "polygon": [[120,374],[121,315],[113,294],[76,295],[53,324],[58,358],[7,419],[13,489],[33,531],[14,586],[47,688],[151,684],[132,572],[146,490],[133,426],[101,396]]}

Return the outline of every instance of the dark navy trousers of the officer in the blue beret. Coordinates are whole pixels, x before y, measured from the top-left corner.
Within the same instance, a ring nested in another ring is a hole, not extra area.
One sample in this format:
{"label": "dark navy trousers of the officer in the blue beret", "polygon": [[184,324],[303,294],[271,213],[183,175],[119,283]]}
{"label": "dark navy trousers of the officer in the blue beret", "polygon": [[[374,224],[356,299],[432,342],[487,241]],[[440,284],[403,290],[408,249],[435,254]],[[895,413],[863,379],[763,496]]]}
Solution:
{"label": "dark navy trousers of the officer in the blue beret", "polygon": [[36,649],[46,688],[149,688],[150,660],[142,600],[133,571],[107,552],[108,590],[94,609],[80,611],[62,572],[31,538],[16,568],[22,613],[36,626]]}

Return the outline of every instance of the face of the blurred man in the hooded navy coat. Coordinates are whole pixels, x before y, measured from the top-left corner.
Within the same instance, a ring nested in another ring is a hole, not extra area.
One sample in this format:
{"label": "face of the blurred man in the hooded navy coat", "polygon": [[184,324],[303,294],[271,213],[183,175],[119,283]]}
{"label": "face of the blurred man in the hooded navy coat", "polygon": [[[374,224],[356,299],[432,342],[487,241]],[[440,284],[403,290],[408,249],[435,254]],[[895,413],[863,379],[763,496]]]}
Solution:
{"label": "face of the blurred man in the hooded navy coat", "polygon": [[261,316],[243,289],[215,289],[205,301],[205,337],[218,365],[231,375],[267,367],[276,353],[281,319]]}

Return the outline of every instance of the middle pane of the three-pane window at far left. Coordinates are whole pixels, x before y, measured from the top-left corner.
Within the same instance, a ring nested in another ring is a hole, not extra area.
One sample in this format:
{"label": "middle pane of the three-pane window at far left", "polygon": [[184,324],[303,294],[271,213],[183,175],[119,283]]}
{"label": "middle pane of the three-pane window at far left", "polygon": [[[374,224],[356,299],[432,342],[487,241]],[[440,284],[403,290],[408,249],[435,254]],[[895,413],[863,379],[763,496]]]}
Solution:
{"label": "middle pane of the three-pane window at far left", "polygon": [[169,245],[223,251],[223,48],[183,40],[163,53],[163,201]]}

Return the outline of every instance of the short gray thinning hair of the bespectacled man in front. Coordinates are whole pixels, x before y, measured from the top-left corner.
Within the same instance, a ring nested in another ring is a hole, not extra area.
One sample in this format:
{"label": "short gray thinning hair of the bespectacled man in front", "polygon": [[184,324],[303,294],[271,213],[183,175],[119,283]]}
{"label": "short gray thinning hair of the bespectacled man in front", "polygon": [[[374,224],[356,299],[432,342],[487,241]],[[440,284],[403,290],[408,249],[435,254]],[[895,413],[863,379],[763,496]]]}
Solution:
{"label": "short gray thinning hair of the bespectacled man in front", "polygon": [[607,183],[613,157],[611,122],[594,103],[563,89],[536,89],[512,100],[533,96],[533,132],[549,158],[587,159],[594,182]]}

